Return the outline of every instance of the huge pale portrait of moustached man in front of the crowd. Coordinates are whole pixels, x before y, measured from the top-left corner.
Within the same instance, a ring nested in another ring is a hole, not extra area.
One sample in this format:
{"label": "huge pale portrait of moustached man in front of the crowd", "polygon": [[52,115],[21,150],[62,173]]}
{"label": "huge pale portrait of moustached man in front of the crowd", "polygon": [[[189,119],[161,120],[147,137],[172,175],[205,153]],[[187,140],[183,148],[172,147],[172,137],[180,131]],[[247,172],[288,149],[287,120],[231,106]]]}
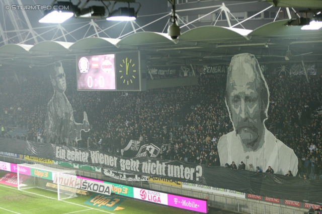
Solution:
{"label": "huge pale portrait of moustached man in front of the crowd", "polygon": [[275,173],[297,173],[294,151],[265,127],[268,118],[269,90],[254,55],[239,54],[231,59],[227,71],[225,102],[233,131],[221,136],[218,153],[221,166],[247,160],[254,167]]}

